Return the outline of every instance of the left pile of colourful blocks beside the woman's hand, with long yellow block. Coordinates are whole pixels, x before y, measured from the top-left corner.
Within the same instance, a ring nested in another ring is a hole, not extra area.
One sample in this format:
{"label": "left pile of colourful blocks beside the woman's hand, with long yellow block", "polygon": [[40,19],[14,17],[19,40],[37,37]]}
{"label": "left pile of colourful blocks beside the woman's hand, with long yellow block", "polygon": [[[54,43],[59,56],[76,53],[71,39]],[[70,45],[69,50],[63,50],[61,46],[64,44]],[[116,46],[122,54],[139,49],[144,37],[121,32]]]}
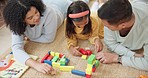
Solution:
{"label": "left pile of colourful blocks beside the woman's hand, with long yellow block", "polygon": [[69,59],[62,53],[49,51],[41,60],[41,63],[47,63],[54,68],[60,68],[60,71],[69,72],[74,66],[67,66]]}

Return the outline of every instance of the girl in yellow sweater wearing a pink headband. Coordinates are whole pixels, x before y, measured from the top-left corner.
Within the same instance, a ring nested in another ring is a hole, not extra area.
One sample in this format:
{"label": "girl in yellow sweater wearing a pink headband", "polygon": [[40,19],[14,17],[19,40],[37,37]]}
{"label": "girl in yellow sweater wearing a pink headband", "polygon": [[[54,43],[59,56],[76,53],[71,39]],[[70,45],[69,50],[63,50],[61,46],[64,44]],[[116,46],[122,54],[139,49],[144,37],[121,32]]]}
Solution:
{"label": "girl in yellow sweater wearing a pink headband", "polygon": [[79,56],[77,39],[88,39],[95,45],[96,51],[103,49],[100,38],[103,38],[103,24],[97,14],[90,16],[90,9],[83,1],[75,1],[67,11],[66,37],[68,48],[73,55]]}

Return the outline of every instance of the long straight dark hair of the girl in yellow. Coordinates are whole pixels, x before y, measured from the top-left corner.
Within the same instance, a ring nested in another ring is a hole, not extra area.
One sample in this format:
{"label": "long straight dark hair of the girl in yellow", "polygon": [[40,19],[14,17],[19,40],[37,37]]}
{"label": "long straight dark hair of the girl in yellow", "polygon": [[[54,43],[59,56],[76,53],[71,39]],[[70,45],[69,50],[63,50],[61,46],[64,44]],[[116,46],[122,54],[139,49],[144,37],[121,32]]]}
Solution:
{"label": "long straight dark hair of the girl in yellow", "polygon": [[[73,2],[67,10],[67,20],[66,20],[66,36],[68,38],[72,38],[74,34],[76,34],[75,32],[75,25],[73,24],[72,21],[76,21],[76,22],[80,22],[82,21],[83,17],[80,18],[69,18],[69,14],[76,14],[76,13],[81,13],[84,11],[89,10],[89,14],[86,15],[89,19],[88,24],[84,27],[82,34],[88,34],[92,32],[91,29],[91,20],[90,20],[90,9],[88,7],[88,5],[83,2],[83,1],[75,1]],[[84,16],[84,17],[86,17]]]}

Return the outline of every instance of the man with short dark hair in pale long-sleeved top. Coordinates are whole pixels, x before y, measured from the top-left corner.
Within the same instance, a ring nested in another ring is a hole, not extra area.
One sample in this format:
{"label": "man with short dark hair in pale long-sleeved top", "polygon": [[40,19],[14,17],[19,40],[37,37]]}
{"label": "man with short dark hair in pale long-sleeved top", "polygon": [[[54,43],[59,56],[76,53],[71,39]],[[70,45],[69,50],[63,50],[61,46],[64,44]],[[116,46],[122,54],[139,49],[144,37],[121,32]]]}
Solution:
{"label": "man with short dark hair in pale long-sleeved top", "polygon": [[104,42],[114,53],[100,52],[97,59],[148,71],[147,10],[147,0],[108,0],[98,16],[105,25]]}

